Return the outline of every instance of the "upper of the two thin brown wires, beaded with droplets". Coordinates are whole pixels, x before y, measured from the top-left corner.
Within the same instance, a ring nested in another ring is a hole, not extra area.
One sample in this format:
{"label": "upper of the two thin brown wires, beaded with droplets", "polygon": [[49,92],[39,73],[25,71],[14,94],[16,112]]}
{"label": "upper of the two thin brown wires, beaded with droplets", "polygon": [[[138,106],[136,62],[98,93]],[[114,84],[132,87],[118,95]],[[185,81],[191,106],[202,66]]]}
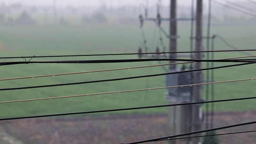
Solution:
{"label": "upper of the two thin brown wires, beaded with droplets", "polygon": [[[254,57],[254,56],[256,56],[256,55],[231,57],[231,58],[225,58],[225,59],[237,59],[237,58],[246,58],[246,57]],[[149,67],[157,67],[157,66],[165,66],[165,65],[173,65],[173,64],[186,64],[186,63],[194,63],[194,62],[167,63],[167,64],[157,64],[157,65],[147,65],[147,66],[137,66],[137,67],[128,67],[128,68],[119,68],[119,69],[108,69],[108,70],[97,70],[97,71],[87,71],[87,72],[70,72],[70,73],[48,74],[48,75],[39,75],[39,76],[5,78],[5,79],[0,79],[0,81],[30,79],[30,78],[40,78],[40,77],[50,77],[50,76],[60,76],[60,75],[72,75],[72,74],[82,74],[82,73],[93,73],[93,72],[119,71],[119,70],[129,70],[129,69],[137,69],[137,68],[149,68]]]}

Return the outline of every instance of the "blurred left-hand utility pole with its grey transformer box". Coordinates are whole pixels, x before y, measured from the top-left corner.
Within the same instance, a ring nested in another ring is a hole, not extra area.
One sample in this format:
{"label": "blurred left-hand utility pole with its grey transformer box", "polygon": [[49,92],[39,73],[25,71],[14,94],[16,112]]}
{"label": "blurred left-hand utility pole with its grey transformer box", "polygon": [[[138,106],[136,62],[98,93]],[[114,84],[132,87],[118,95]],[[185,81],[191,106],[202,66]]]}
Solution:
{"label": "blurred left-hand utility pole with its grey transformer box", "polygon": [[[170,52],[177,51],[177,0],[170,0]],[[170,54],[170,58],[176,59],[177,54]],[[172,63],[175,63],[172,61]],[[180,71],[176,65],[170,65],[170,72]],[[182,70],[184,71],[184,70]],[[190,84],[191,81],[187,76],[189,74],[171,74],[167,75],[167,86],[174,86],[179,84]],[[188,79],[186,79],[188,78]],[[170,103],[185,103],[190,102],[191,90],[186,88],[174,88],[168,90],[168,99]],[[171,134],[181,134],[190,132],[192,117],[190,113],[190,106],[175,106],[169,110],[169,129]],[[179,143],[178,143],[179,142]],[[170,141],[169,144],[187,144],[187,140]]]}

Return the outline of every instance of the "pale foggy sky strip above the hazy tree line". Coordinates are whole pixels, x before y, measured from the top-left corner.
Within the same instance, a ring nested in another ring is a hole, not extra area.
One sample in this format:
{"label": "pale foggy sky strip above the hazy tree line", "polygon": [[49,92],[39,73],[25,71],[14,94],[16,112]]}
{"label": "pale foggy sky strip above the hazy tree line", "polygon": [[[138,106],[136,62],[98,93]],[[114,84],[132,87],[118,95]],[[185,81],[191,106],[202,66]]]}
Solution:
{"label": "pale foggy sky strip above the hazy tree line", "polygon": [[[22,3],[24,5],[53,5],[54,0],[0,0],[0,2],[4,2],[5,4],[10,3]],[[107,6],[121,6],[121,5],[141,5],[146,4],[147,0],[56,0],[56,3],[59,7],[65,7],[67,5],[73,6],[91,6],[98,7],[102,3],[105,3]],[[158,0],[148,0],[149,5],[155,5]],[[177,0],[180,5],[190,5],[191,0]],[[204,0],[208,1],[208,0]],[[221,1],[221,0],[220,0]],[[229,0],[229,1],[241,1],[241,0]],[[164,5],[168,5],[170,0],[162,0]]]}

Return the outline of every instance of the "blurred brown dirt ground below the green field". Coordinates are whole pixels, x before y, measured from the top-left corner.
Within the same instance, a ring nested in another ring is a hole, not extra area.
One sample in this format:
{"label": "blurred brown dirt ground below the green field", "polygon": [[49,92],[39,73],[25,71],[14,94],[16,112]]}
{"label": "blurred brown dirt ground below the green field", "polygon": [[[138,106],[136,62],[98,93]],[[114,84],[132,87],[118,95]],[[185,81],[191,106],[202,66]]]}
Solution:
{"label": "blurred brown dirt ground below the green field", "polygon": [[[215,127],[256,120],[256,111],[222,112]],[[23,144],[120,144],[167,136],[167,115],[55,117],[0,122],[8,135]],[[256,125],[239,126],[217,133],[256,130]],[[219,136],[221,144],[256,144],[256,134]],[[167,144],[166,142],[149,144]]]}

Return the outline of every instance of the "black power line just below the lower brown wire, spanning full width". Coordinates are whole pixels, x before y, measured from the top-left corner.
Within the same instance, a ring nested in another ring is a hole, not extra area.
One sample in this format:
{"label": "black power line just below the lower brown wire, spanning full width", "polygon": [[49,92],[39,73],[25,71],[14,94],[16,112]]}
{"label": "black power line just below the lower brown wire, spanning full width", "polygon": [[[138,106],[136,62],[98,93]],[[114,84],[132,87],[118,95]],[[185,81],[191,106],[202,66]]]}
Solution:
{"label": "black power line just below the lower brown wire, spanning full width", "polygon": [[108,109],[108,110],[83,111],[83,112],[74,112],[74,113],[53,114],[53,115],[38,115],[38,116],[27,116],[27,117],[10,117],[10,118],[0,118],[0,121],[3,121],[3,120],[14,120],[14,119],[38,118],[38,117],[56,117],[56,116],[68,116],[68,115],[80,115],[80,114],[91,114],[91,113],[123,111],[123,110],[134,110],[134,109],[146,109],[146,108],[173,107],[173,106],[182,106],[182,105],[203,104],[203,103],[210,103],[210,102],[236,101],[236,100],[246,100],[246,99],[256,99],[256,97],[240,98],[240,99],[224,99],[224,100],[214,100],[214,101],[200,101],[200,102],[179,103],[179,104],[171,104],[171,105],[158,105],[158,106],[137,107],[137,108],[119,108],[119,109]]}

